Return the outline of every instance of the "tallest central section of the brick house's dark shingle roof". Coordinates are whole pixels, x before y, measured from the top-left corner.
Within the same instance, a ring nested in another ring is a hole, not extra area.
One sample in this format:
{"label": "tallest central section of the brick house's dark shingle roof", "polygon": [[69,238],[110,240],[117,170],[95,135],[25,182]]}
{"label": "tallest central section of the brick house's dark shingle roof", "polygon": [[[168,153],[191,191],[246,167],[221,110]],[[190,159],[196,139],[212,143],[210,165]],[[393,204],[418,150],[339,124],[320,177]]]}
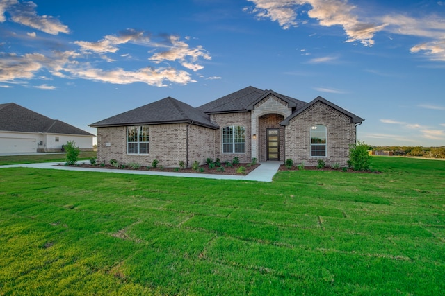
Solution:
{"label": "tallest central section of the brick house's dark shingle roof", "polygon": [[222,98],[218,98],[215,101],[204,104],[198,107],[199,110],[206,112],[207,114],[212,113],[228,113],[228,112],[247,112],[254,109],[254,105],[261,101],[263,98],[273,94],[283,101],[289,103],[289,107],[300,108],[307,103],[297,100],[296,98],[291,98],[290,96],[284,96],[282,94],[277,94],[272,90],[262,90],[257,87],[245,87],[244,89],[238,90]]}

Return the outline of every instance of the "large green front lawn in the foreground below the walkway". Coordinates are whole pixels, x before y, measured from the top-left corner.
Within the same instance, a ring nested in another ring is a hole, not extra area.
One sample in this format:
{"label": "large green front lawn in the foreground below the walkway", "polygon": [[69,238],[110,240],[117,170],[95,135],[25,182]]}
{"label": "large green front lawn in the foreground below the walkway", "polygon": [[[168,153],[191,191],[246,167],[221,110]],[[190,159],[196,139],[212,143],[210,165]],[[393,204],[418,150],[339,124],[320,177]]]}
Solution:
{"label": "large green front lawn in the foreground below the walkway", "polygon": [[272,183],[0,168],[0,295],[443,295],[445,162],[373,168]]}

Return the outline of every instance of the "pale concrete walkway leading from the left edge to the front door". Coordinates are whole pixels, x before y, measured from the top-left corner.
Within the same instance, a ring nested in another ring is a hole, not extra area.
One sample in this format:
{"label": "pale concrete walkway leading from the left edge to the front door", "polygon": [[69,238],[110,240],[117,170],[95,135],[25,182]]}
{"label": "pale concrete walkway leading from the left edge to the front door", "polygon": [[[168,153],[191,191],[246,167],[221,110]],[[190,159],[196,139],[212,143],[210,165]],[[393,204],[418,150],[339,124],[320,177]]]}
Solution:
{"label": "pale concrete walkway leading from the left edge to the front door", "polygon": [[[90,164],[89,161],[79,161],[79,164]],[[63,162],[42,162],[40,164],[10,164],[7,166],[0,166],[0,168],[48,168],[65,171],[90,171],[103,173],[121,173],[133,175],[160,175],[170,177],[200,177],[205,179],[218,180],[245,180],[245,181],[259,181],[272,182],[272,178],[280,168],[280,162],[263,162],[261,166],[255,168],[248,175],[216,175],[216,174],[202,174],[202,173],[175,173],[175,172],[154,172],[154,171],[133,171],[133,170],[111,170],[108,168],[80,168],[75,166],[59,166]]]}

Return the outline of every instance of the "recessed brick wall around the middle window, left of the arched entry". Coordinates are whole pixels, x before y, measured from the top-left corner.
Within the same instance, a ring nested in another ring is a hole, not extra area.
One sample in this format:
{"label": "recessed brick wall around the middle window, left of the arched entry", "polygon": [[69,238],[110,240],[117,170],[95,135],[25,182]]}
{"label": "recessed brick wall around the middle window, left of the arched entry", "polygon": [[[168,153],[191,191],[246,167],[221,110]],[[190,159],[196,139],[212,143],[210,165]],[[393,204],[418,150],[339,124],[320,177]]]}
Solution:
{"label": "recessed brick wall around the middle window, left of the arched entry", "polygon": [[[211,121],[220,126],[219,130],[215,130],[215,158],[218,157],[222,162],[232,160],[238,157],[240,162],[252,162],[250,130],[250,112],[211,114]],[[229,125],[240,125],[245,128],[245,153],[223,153],[223,128]]]}

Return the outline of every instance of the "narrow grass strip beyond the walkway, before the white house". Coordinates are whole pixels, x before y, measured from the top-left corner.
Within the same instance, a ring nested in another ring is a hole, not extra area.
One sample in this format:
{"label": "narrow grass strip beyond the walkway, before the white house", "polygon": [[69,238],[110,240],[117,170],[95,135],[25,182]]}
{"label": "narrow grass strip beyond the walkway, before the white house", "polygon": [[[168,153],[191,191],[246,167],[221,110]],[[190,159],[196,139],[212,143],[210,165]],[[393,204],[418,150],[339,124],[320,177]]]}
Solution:
{"label": "narrow grass strip beyond the walkway, before the white house", "polygon": [[[96,157],[96,151],[81,152],[79,160]],[[11,155],[0,156],[0,166],[7,164],[35,164],[39,162],[65,162],[65,154],[41,153],[38,155]]]}

